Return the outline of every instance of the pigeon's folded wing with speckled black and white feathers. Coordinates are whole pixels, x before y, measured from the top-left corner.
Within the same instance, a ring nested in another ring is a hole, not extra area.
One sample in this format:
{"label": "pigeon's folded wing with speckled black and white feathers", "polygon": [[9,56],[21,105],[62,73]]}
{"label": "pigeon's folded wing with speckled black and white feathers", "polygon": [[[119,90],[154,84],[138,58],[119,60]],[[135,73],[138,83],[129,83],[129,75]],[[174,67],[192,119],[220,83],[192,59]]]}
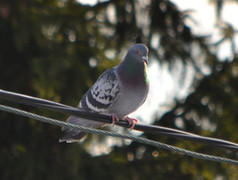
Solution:
{"label": "pigeon's folded wing with speckled black and white feathers", "polygon": [[82,97],[79,107],[96,112],[106,112],[120,93],[120,82],[115,68],[105,71]]}

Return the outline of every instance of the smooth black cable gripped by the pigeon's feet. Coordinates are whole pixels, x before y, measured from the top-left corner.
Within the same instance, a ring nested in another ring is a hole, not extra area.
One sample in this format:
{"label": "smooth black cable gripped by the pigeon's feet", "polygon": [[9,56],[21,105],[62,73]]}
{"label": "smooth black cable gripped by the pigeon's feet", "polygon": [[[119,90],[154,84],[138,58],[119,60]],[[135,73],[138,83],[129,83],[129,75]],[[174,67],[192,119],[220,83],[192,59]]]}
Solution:
{"label": "smooth black cable gripped by the pigeon's feet", "polygon": [[[0,89],[0,98],[21,103],[21,104],[30,105],[30,106],[42,107],[42,108],[50,109],[53,111],[58,111],[61,113],[76,115],[91,121],[93,120],[93,121],[99,121],[103,123],[111,123],[111,117],[107,115],[102,115],[95,112],[83,111],[81,109],[64,105],[61,103],[56,103],[53,101],[36,98],[32,96],[27,96],[27,95],[23,95],[19,93],[13,93],[13,92],[1,90],[1,89]],[[116,125],[130,128],[130,125],[126,121],[123,121],[123,120],[116,122]],[[228,150],[238,151],[238,144],[236,143],[221,140],[221,139],[216,139],[216,138],[199,136],[196,134],[184,132],[177,129],[137,123],[135,127],[133,128],[133,130],[143,131],[149,134],[169,136],[169,137],[173,137],[177,139],[178,138],[185,139],[189,141],[195,141],[199,143],[208,144],[213,147],[220,147],[220,148],[224,148]]]}

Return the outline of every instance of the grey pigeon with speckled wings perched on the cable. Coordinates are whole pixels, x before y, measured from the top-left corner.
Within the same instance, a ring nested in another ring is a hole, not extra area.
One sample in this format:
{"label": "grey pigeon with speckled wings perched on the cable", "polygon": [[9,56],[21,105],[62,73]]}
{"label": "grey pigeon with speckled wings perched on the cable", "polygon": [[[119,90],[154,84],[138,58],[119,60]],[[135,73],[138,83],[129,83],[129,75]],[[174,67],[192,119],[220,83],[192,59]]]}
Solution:
{"label": "grey pigeon with speckled wings perched on the cable", "polygon": [[[123,119],[133,129],[137,120],[129,118],[128,115],[137,110],[147,98],[149,91],[147,65],[148,48],[144,44],[133,45],[119,65],[99,76],[80,100],[78,108],[110,115],[112,124]],[[105,125],[77,116],[70,116],[67,122],[89,128]],[[86,135],[85,132],[71,128],[63,128],[62,131],[64,135],[59,142],[77,142]]]}

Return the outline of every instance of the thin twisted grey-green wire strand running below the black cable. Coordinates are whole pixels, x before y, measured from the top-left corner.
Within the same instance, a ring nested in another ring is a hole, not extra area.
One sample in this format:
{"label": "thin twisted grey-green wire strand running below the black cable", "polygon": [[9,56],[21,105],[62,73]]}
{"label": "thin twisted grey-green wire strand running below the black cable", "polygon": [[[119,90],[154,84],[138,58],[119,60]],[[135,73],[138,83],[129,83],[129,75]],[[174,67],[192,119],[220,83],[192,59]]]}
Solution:
{"label": "thin twisted grey-green wire strand running below the black cable", "polygon": [[27,111],[23,111],[23,110],[20,110],[20,109],[16,109],[16,108],[4,106],[4,105],[0,105],[0,110],[10,112],[10,113],[14,113],[14,114],[21,115],[21,116],[25,116],[25,117],[28,117],[28,118],[32,118],[32,119],[35,119],[35,120],[38,120],[38,121],[41,121],[41,122],[45,122],[45,123],[49,123],[49,124],[52,124],[52,125],[56,125],[56,126],[61,126],[61,127],[66,127],[66,128],[73,128],[73,129],[77,129],[77,130],[80,130],[80,131],[84,131],[86,133],[93,133],[93,134],[104,135],[104,136],[113,136],[113,137],[122,138],[122,139],[131,139],[133,141],[143,143],[143,144],[148,144],[148,145],[151,145],[151,146],[155,146],[157,148],[166,149],[166,150],[174,151],[174,152],[177,152],[177,153],[182,153],[186,156],[196,157],[196,158],[210,160],[210,161],[228,163],[228,164],[233,164],[233,165],[238,166],[238,161],[236,161],[236,160],[217,157],[217,156],[206,155],[206,154],[202,154],[202,153],[196,153],[196,152],[188,151],[188,150],[185,150],[185,149],[182,149],[182,148],[177,148],[177,147],[174,147],[174,146],[171,146],[171,145],[160,143],[160,142],[157,142],[157,141],[149,140],[149,139],[146,139],[146,138],[136,137],[136,136],[132,136],[132,135],[119,134],[119,133],[110,132],[110,131],[92,129],[92,128],[87,128],[87,127],[83,127],[83,126],[78,126],[78,125],[58,121],[58,120],[55,120],[55,119],[52,119],[52,118],[47,118],[47,117],[44,117],[44,116],[40,116],[40,115],[37,115],[37,114],[33,114],[33,113],[30,113],[30,112],[27,112]]}

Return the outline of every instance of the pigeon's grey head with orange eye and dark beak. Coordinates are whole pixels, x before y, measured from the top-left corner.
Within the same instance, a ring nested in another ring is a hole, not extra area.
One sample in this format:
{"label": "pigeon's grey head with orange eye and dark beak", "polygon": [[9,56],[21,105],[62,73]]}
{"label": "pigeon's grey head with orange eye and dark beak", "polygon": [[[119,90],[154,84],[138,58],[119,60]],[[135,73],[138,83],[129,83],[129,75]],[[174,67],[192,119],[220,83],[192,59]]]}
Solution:
{"label": "pigeon's grey head with orange eye and dark beak", "polygon": [[135,44],[129,49],[127,55],[130,59],[148,64],[148,48],[144,44]]}

